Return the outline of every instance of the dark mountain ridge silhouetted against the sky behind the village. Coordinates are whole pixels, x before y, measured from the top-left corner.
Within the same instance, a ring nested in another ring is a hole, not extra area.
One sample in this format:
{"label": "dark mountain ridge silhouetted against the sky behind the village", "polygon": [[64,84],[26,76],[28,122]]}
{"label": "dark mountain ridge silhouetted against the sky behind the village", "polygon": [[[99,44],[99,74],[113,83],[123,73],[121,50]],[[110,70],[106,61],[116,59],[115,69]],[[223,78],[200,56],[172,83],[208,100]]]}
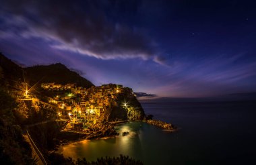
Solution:
{"label": "dark mountain ridge silhouetted against the sky behind the village", "polygon": [[3,54],[0,54],[0,67],[2,68],[3,76],[9,84],[13,81],[29,83],[30,86],[40,85],[41,83],[57,83],[65,85],[67,83],[75,83],[80,87],[93,87],[94,85],[86,78],[69,70],[65,65],[61,63],[51,64],[48,66],[31,66],[28,68],[22,68],[15,64]]}

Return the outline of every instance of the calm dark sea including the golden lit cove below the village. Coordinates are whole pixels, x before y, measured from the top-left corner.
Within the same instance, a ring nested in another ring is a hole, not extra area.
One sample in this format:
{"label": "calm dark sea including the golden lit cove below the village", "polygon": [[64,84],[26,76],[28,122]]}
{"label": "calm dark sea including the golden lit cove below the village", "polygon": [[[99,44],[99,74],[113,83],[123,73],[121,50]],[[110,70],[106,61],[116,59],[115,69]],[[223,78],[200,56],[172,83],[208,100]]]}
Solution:
{"label": "calm dark sea including the golden lit cove below the village", "polygon": [[129,155],[144,164],[251,164],[255,162],[256,103],[143,103],[144,110],[177,125],[176,132],[146,123],[125,123],[108,140],[84,140],[61,146],[72,158]]}

